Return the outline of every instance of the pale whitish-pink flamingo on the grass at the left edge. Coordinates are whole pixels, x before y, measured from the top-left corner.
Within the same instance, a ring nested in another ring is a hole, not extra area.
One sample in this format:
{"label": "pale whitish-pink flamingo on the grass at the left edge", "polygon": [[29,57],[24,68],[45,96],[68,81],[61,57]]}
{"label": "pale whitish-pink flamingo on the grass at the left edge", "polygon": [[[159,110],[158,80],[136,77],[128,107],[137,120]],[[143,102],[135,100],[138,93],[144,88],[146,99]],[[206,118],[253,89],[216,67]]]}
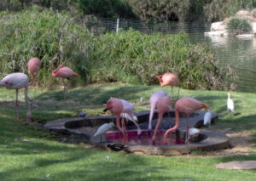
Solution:
{"label": "pale whitish-pink flamingo on the grass at the left edge", "polygon": [[23,73],[12,73],[8,76],[4,76],[0,81],[0,86],[5,88],[11,88],[16,90],[16,100],[15,100],[15,108],[16,108],[16,118],[19,122],[19,104],[18,104],[18,94],[19,89],[24,88],[25,100],[27,105],[26,112],[26,122],[31,122],[31,103],[28,100],[27,92],[28,92],[29,80],[26,74]]}

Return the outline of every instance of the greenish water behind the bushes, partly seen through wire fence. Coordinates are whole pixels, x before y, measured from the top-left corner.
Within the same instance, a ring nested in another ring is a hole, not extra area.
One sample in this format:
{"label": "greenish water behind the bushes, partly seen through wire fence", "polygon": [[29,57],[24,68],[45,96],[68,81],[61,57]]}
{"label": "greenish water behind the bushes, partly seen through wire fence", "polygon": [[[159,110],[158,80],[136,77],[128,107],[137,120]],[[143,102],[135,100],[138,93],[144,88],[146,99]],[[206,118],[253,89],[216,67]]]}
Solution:
{"label": "greenish water behind the bushes, partly seen through wire fence", "polygon": [[97,22],[87,21],[84,24],[95,34],[109,31],[118,32],[119,29],[127,30],[133,28],[146,34],[156,32],[164,34],[176,34],[185,31],[189,35],[192,43],[206,43],[212,47],[219,64],[225,71],[230,68],[237,75],[236,82],[232,82],[231,90],[241,92],[256,92],[256,38],[237,38],[222,36],[205,36],[205,32],[210,31],[211,25],[199,23],[180,22],[153,22],[141,20],[125,19],[102,19]]}

